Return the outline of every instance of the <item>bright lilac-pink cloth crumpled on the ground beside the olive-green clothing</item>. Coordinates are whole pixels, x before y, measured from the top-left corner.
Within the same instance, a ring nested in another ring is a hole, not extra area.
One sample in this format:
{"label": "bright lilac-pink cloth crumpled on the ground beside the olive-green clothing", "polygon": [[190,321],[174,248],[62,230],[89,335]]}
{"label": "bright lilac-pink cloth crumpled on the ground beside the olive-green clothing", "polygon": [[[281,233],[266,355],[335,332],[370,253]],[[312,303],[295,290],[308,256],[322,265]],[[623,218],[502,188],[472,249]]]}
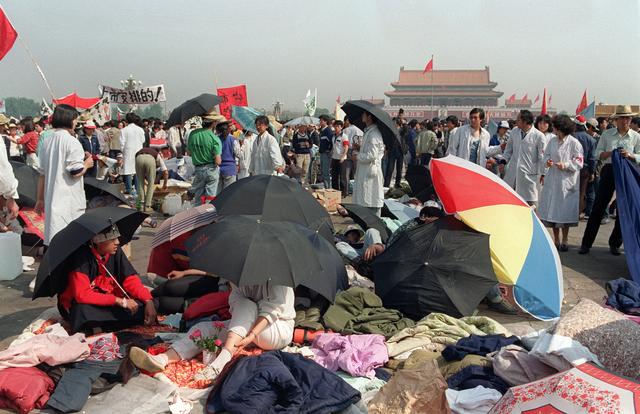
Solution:
{"label": "bright lilac-pink cloth crumpled on the ground beside the olive-green clothing", "polygon": [[382,335],[325,333],[311,346],[314,361],[330,371],[341,369],[354,377],[375,377],[375,369],[389,360]]}

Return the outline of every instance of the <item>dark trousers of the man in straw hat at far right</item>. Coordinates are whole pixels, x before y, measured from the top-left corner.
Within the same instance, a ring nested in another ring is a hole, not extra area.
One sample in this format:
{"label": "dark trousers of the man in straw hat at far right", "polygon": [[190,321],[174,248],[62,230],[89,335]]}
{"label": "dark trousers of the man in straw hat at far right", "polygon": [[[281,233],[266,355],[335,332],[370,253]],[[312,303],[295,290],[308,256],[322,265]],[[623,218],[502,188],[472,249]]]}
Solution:
{"label": "dark trousers of the man in straw hat at far right", "polygon": [[[598,185],[598,192],[596,193],[596,201],[593,203],[593,209],[591,210],[591,215],[587,222],[587,228],[582,236],[583,247],[591,248],[591,246],[593,246],[593,242],[595,241],[596,236],[598,235],[598,230],[600,229],[600,222],[604,217],[607,206],[611,202],[611,198],[613,198],[615,190],[616,184],[613,178],[613,166],[611,164],[607,164],[602,167],[602,171],[600,173],[600,184]],[[622,246],[622,232],[620,231],[620,223],[617,218],[615,225],[613,226],[611,236],[609,236],[609,246]]]}

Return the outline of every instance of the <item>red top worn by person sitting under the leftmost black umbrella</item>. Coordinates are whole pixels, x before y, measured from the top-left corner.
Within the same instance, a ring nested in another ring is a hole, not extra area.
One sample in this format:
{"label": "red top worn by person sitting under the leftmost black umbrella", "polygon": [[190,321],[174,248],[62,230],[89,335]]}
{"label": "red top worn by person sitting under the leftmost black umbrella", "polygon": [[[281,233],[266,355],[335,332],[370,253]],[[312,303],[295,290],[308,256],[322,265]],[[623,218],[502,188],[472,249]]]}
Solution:
{"label": "red top worn by person sitting under the leftmost black umbrella", "polygon": [[[92,249],[92,252],[93,258],[98,261],[98,264],[106,265],[109,261],[110,255],[102,258],[95,250]],[[122,287],[133,299],[138,299],[142,302],[153,299],[151,292],[144,287],[138,275],[125,276]],[[113,279],[107,275],[104,266],[98,265],[98,276],[93,279],[93,282],[91,282],[88,274],[79,270],[71,271],[67,287],[60,294],[58,300],[65,309],[69,310],[74,301],[88,305],[113,306],[116,304],[117,297],[122,298],[124,294]]]}

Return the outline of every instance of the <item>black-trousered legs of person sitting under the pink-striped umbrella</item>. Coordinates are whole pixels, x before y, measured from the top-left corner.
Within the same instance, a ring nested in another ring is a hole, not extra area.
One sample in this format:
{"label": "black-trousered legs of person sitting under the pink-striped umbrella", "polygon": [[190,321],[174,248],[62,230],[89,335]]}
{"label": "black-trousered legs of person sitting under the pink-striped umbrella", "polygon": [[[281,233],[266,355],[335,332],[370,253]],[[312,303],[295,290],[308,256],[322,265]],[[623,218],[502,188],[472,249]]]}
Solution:
{"label": "black-trousered legs of person sitting under the pink-striped umbrella", "polygon": [[187,299],[199,298],[218,291],[220,279],[211,276],[185,276],[167,280],[151,291],[158,313],[165,315],[184,312]]}

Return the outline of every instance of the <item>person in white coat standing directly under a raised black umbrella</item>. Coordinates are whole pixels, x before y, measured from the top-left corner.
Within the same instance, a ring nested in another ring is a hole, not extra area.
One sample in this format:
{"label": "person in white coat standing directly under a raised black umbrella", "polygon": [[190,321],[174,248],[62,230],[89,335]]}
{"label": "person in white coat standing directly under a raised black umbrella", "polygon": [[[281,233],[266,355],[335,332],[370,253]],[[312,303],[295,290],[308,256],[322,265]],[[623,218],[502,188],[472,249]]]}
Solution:
{"label": "person in white coat standing directly under a raised black umbrella", "polygon": [[384,141],[382,133],[375,123],[375,118],[368,112],[362,113],[362,122],[366,125],[362,146],[358,153],[358,169],[353,186],[353,202],[368,207],[380,216],[384,201],[382,188],[382,157]]}

